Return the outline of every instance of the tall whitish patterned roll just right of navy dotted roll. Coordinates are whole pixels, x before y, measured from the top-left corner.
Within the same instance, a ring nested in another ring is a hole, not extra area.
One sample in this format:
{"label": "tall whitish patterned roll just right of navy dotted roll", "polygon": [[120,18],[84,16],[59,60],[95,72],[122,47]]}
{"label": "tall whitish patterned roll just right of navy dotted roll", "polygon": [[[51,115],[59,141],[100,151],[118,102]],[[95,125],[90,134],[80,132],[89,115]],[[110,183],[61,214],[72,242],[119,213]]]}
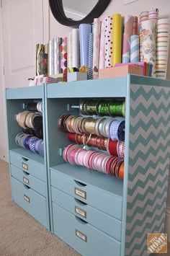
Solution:
{"label": "tall whitish patterned roll just right of navy dotted roll", "polygon": [[93,79],[99,76],[99,45],[100,45],[101,21],[94,19],[94,39],[93,39]]}

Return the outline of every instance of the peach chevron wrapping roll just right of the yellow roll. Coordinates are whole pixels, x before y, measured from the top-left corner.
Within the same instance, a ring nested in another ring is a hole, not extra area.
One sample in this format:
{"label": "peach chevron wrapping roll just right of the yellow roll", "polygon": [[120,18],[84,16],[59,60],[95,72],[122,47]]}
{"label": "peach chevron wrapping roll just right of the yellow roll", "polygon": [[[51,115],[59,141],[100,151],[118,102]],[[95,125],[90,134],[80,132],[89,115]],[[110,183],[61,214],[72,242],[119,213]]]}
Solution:
{"label": "peach chevron wrapping roll just right of the yellow roll", "polygon": [[130,37],[133,35],[133,16],[124,18],[124,34],[122,41],[122,63],[130,62]]}

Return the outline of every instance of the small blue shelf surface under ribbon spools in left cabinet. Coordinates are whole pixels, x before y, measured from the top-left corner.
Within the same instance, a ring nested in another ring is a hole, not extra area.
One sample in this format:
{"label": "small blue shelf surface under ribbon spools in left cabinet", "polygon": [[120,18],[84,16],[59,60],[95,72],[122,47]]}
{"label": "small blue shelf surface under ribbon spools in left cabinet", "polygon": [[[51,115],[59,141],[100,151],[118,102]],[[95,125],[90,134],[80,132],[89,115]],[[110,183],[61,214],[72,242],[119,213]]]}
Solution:
{"label": "small blue shelf surface under ribbon spools in left cabinet", "polygon": [[24,158],[27,158],[29,160],[32,160],[34,162],[38,162],[39,164],[44,164],[44,158],[40,156],[39,154],[33,153],[29,149],[24,149],[22,147],[18,147],[15,149],[11,149],[10,151],[13,151],[16,154],[19,154],[20,156],[23,156]]}

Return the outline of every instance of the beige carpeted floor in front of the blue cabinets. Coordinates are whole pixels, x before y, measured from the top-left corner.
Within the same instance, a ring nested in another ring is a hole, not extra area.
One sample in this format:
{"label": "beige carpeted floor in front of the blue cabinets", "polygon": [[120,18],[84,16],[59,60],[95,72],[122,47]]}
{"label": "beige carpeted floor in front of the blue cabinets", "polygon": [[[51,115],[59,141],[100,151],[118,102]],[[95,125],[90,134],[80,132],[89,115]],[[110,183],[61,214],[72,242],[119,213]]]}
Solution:
{"label": "beige carpeted floor in front of the blue cabinets", "polygon": [[[170,246],[167,254],[156,255],[170,256]],[[22,208],[12,203],[8,164],[1,160],[0,256],[79,256],[61,239],[55,237],[25,213]],[[113,254],[113,256],[116,255]]]}

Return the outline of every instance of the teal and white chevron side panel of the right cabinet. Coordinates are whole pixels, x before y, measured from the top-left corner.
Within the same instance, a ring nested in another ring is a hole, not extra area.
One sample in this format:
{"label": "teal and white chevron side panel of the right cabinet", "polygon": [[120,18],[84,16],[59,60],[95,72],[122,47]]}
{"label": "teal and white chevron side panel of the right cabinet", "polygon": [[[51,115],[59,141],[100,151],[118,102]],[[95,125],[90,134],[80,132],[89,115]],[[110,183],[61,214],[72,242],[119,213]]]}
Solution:
{"label": "teal and white chevron side panel of the right cabinet", "polygon": [[170,155],[170,89],[131,84],[126,256],[147,254],[164,232]]}

